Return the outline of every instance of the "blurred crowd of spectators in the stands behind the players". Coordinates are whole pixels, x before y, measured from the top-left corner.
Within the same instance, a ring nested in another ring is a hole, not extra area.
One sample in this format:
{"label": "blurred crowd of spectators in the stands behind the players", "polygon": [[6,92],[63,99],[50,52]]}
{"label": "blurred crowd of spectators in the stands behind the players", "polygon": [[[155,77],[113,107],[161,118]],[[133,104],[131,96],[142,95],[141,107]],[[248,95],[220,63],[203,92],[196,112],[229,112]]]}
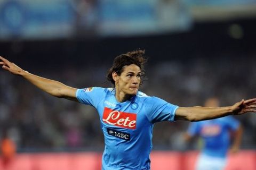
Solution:
{"label": "blurred crowd of spectators in the stands behind the players", "polygon": [[[220,54],[218,57],[162,61],[149,56],[147,77],[140,90],[183,107],[203,106],[204,101],[213,96],[220,99],[221,106],[233,105],[241,99],[256,97],[255,56],[256,53],[246,57]],[[75,88],[111,86],[105,77],[111,65],[90,63],[91,66],[81,69],[78,65],[67,64],[69,66],[59,65],[55,70],[23,69]],[[102,151],[104,141],[100,120],[93,107],[51,97],[4,71],[0,71],[0,77],[0,129],[7,131],[18,151]],[[249,113],[235,118],[245,129],[242,148],[255,149],[256,115]],[[153,149],[196,148],[195,143],[187,146],[183,142],[182,135],[188,123],[157,123]],[[2,135],[0,132],[0,137]]]}

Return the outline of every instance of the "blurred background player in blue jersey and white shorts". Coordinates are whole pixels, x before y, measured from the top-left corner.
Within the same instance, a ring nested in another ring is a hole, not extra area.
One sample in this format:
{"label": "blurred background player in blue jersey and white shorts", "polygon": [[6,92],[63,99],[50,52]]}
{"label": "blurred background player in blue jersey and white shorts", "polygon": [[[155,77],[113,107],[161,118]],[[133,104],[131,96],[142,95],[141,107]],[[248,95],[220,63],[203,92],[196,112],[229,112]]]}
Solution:
{"label": "blurred background player in blue jersey and white shorts", "polygon": [[[205,101],[205,106],[219,107],[219,100],[209,98]],[[232,116],[190,123],[185,140],[189,141],[197,136],[204,141],[195,169],[201,170],[206,167],[209,170],[224,169],[227,165],[228,151],[237,152],[239,150],[242,132],[241,124]]]}

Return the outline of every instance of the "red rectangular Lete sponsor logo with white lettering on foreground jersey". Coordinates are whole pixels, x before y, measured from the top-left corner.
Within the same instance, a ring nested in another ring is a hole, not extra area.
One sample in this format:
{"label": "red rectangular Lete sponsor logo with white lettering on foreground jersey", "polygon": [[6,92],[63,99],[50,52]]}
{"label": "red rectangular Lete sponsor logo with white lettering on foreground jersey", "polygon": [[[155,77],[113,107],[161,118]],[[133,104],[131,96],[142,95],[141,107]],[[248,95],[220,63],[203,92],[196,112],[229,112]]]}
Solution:
{"label": "red rectangular Lete sponsor logo with white lettering on foreground jersey", "polygon": [[105,107],[102,121],[121,128],[136,129],[137,114],[119,112]]}

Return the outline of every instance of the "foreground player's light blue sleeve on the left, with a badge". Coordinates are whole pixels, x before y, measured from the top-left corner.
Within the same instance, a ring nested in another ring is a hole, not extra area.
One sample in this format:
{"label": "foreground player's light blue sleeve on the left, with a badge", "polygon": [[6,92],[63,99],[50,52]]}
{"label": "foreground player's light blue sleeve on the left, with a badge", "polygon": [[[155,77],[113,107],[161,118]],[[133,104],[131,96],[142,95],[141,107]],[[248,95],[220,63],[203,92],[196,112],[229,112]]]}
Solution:
{"label": "foreground player's light blue sleeve on the left, with a badge", "polygon": [[97,107],[102,96],[104,96],[104,90],[104,88],[99,87],[77,89],[76,98],[82,104]]}

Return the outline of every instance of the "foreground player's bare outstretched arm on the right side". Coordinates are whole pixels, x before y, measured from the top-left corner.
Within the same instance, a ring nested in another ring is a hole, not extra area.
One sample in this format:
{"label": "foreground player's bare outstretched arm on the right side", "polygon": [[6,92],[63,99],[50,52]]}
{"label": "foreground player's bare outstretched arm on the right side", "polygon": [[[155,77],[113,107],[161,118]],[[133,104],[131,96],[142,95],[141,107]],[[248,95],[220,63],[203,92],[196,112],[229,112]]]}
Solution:
{"label": "foreground player's bare outstretched arm on the right side", "polygon": [[241,100],[233,106],[227,107],[179,107],[175,112],[175,120],[203,121],[246,112],[256,112],[256,98]]}

